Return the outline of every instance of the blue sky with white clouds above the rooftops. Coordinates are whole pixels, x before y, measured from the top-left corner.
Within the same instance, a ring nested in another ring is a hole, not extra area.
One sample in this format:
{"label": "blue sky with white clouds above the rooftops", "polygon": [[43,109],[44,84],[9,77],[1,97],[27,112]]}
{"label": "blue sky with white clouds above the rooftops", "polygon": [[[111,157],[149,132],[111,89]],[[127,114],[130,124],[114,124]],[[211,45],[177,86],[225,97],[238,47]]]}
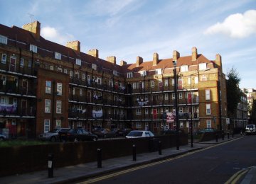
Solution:
{"label": "blue sky with white clouds above the rooftops", "polygon": [[[41,22],[41,35],[65,45],[79,40],[82,52],[136,62],[199,54],[215,59],[223,71],[237,69],[240,88],[256,88],[255,0],[0,0],[0,23],[12,26]],[[31,16],[33,15],[33,16]]]}

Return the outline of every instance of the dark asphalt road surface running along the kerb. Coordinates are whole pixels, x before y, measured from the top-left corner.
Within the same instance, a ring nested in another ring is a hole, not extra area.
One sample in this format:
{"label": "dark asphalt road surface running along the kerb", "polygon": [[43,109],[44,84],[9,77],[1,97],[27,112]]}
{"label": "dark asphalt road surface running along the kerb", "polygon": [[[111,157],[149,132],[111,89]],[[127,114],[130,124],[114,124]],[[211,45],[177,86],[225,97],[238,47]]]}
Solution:
{"label": "dark asphalt road surface running along the kerb", "polygon": [[225,183],[242,168],[256,166],[255,144],[256,136],[242,137],[159,164],[115,173],[111,178],[104,176],[97,183]]}

